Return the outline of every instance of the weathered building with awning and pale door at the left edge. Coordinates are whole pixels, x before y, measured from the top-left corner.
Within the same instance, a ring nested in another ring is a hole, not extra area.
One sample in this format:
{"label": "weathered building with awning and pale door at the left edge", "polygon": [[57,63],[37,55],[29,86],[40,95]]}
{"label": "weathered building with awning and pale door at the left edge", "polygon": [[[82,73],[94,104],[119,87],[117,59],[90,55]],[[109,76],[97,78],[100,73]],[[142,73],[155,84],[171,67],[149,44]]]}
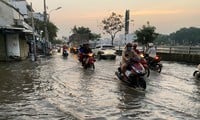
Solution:
{"label": "weathered building with awning and pale door at the left edge", "polygon": [[27,36],[32,31],[12,0],[0,0],[0,61],[27,58],[30,51]]}

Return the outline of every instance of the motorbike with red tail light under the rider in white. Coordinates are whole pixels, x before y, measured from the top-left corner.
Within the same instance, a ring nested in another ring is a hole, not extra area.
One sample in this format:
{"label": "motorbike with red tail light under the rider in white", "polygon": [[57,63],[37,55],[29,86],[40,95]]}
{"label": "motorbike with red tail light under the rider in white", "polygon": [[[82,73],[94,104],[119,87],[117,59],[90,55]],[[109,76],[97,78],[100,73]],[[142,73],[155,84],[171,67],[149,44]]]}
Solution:
{"label": "motorbike with red tail light under the rider in white", "polygon": [[156,55],[154,58],[150,58],[148,55],[145,55],[149,69],[157,71],[158,73],[162,70],[162,64],[160,63],[160,56]]}

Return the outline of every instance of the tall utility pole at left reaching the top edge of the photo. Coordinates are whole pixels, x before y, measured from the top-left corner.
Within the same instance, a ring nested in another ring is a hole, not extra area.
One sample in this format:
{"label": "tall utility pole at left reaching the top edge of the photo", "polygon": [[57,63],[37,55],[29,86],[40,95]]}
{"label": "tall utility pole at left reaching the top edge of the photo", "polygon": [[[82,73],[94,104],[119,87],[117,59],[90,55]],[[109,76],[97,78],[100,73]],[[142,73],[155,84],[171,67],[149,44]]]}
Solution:
{"label": "tall utility pole at left reaching the top edge of the photo", "polygon": [[44,32],[45,32],[45,40],[44,40],[44,54],[47,55],[47,42],[49,41],[49,34],[47,29],[47,7],[46,0],[44,0]]}

